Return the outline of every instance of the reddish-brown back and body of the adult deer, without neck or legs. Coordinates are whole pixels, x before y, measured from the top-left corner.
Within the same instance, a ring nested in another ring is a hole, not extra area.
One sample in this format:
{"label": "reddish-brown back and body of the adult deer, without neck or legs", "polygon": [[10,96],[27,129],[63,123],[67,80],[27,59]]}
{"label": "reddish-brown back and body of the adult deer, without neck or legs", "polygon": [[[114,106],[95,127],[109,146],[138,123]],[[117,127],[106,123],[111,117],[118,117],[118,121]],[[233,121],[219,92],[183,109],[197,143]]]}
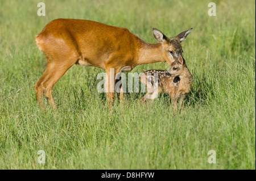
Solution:
{"label": "reddish-brown back and body of the adult deer, without neck or legs", "polygon": [[73,52],[92,65],[103,64],[109,57],[131,59],[137,36],[126,28],[80,19],[55,19],[36,36],[40,50],[48,54]]}

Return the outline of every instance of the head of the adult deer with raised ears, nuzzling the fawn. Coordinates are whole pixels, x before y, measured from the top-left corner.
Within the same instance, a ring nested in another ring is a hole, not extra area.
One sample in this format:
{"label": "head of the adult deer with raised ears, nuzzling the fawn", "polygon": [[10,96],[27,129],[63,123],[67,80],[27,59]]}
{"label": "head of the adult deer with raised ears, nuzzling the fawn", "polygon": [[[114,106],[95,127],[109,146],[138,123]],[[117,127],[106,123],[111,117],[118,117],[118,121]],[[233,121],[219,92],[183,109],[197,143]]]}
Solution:
{"label": "head of the adult deer with raised ears, nuzzling the fawn", "polygon": [[169,65],[172,64],[177,58],[182,58],[181,53],[183,52],[181,48],[181,42],[185,40],[188,34],[193,30],[193,28],[179,33],[175,37],[168,39],[161,31],[153,28],[153,34],[155,39],[162,45],[162,54],[164,60],[168,62]]}

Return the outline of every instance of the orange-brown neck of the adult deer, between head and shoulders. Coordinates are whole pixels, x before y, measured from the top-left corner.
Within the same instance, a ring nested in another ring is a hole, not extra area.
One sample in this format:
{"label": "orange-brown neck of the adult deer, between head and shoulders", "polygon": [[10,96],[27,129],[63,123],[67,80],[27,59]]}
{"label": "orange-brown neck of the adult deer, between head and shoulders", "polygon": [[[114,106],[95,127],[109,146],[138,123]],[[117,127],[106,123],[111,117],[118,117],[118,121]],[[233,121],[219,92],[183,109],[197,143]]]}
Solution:
{"label": "orange-brown neck of the adult deer, between head and shoulders", "polygon": [[162,45],[160,43],[150,44],[141,40],[141,46],[137,53],[137,65],[166,62],[162,56]]}

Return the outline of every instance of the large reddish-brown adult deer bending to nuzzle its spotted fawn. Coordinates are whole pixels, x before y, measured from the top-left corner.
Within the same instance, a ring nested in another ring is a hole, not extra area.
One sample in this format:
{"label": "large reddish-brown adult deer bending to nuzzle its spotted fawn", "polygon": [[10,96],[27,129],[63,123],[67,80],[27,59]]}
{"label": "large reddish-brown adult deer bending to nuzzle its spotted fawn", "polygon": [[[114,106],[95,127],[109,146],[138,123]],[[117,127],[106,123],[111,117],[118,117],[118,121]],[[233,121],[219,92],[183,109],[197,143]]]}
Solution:
{"label": "large reddish-brown adult deer bending to nuzzle its spotted fawn", "polygon": [[[52,87],[74,64],[96,66],[106,70],[106,92],[109,109],[114,99],[115,80],[110,82],[110,68],[114,75],[130,71],[135,66],[154,62],[174,61],[180,57],[180,42],[192,28],[168,39],[162,32],[153,28],[159,43],[150,44],[139,39],[127,28],[119,28],[80,19],[55,19],[49,22],[36,36],[36,45],[42,50],[48,64],[42,77],[35,84],[36,99],[42,102],[43,94],[55,108]],[[108,83],[110,82],[110,83]]]}

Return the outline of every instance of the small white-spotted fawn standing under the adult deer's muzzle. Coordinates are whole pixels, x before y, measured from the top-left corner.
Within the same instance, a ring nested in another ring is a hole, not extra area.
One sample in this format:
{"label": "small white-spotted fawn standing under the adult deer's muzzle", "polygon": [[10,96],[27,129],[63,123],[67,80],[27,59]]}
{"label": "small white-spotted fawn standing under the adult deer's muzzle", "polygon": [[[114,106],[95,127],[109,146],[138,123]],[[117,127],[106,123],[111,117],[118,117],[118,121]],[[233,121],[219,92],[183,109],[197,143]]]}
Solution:
{"label": "small white-spotted fawn standing under the adult deer's muzzle", "polygon": [[[154,98],[149,98],[149,95],[152,95],[154,85],[158,83],[158,90],[156,91],[169,94],[175,111],[177,111],[177,102],[179,101],[181,104],[180,111],[182,110],[183,100],[191,90],[193,82],[192,74],[189,72],[184,58],[179,58],[172,62],[168,71],[147,70],[143,73],[141,74],[141,82],[147,86],[147,93],[141,99],[142,102],[147,99],[154,100]],[[154,73],[158,73],[158,82],[154,80]]]}

